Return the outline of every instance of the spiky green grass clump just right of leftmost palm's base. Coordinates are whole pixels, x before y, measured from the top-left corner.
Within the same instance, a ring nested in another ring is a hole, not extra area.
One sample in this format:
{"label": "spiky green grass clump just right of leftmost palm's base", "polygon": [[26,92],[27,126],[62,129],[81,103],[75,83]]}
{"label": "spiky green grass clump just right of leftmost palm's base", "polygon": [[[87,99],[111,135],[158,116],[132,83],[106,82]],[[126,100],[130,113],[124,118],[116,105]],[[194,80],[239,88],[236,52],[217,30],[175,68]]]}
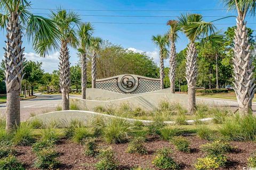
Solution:
{"label": "spiky green grass clump just right of leftmost palm's base", "polygon": [[28,146],[35,142],[31,133],[32,127],[29,123],[21,123],[13,134],[13,144],[19,146]]}

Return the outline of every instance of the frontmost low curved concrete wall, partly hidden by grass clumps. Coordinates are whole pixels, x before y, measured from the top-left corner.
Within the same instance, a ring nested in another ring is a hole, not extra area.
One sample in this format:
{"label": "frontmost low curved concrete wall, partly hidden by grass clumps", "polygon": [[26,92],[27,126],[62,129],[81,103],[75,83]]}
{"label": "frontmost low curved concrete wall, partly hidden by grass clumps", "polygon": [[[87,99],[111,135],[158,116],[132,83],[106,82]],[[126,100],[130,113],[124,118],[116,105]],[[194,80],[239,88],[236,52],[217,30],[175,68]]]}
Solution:
{"label": "frontmost low curved concrete wall, partly hidden by grass clumps", "polygon": [[[135,121],[140,121],[145,125],[149,125],[153,121],[146,121],[146,120],[135,120],[132,118],[124,118],[124,117],[118,117],[113,115],[107,115],[107,114],[101,114],[96,112],[90,112],[90,111],[57,111],[57,112],[50,112],[42,115],[37,115],[34,117],[29,118],[29,120],[41,120],[43,122],[51,122],[51,121],[63,121],[65,123],[70,122],[71,120],[80,120],[84,123],[87,123],[90,121],[93,117],[96,116],[102,116],[103,118],[106,118],[108,120],[109,118],[120,118],[123,119],[129,123],[134,123]],[[210,122],[213,118],[202,118],[199,119],[199,121],[203,122]],[[195,120],[187,120],[187,124],[194,124]],[[165,124],[173,125],[174,121],[165,121]]]}

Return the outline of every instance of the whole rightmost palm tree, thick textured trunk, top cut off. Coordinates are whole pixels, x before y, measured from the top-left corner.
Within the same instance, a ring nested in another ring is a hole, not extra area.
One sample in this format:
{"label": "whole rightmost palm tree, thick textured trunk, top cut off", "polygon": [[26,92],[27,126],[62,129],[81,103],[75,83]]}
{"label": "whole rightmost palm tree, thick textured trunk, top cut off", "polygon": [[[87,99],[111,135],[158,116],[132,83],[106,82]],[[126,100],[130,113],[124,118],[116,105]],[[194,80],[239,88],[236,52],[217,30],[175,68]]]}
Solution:
{"label": "whole rightmost palm tree, thick textured trunk, top cut off", "polygon": [[239,112],[248,114],[252,108],[252,99],[255,92],[255,83],[253,78],[252,57],[250,45],[248,43],[246,29],[246,14],[255,15],[255,0],[225,0],[229,9],[236,8],[238,16],[236,19],[237,28],[234,39],[234,90],[238,101]]}

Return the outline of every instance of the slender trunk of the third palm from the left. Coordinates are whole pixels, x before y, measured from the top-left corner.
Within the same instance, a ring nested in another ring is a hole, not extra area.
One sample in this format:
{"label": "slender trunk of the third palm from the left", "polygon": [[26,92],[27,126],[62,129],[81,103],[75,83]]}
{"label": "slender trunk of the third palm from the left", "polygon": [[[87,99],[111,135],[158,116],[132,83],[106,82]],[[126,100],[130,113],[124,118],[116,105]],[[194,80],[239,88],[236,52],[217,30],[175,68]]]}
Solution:
{"label": "slender trunk of the third palm from the left", "polygon": [[86,54],[82,54],[82,99],[86,99]]}

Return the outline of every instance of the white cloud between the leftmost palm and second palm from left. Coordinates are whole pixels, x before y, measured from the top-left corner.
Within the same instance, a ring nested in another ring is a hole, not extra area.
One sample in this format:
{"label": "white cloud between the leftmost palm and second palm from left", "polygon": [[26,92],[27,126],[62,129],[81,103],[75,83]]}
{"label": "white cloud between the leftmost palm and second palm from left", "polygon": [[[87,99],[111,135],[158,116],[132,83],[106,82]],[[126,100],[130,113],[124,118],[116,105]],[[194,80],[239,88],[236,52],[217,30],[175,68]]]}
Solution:
{"label": "white cloud between the leftmost palm and second palm from left", "polygon": [[59,65],[59,52],[47,55],[45,57],[40,57],[35,53],[24,53],[27,60],[42,62],[42,69],[45,72],[52,72],[53,70],[58,70]]}

